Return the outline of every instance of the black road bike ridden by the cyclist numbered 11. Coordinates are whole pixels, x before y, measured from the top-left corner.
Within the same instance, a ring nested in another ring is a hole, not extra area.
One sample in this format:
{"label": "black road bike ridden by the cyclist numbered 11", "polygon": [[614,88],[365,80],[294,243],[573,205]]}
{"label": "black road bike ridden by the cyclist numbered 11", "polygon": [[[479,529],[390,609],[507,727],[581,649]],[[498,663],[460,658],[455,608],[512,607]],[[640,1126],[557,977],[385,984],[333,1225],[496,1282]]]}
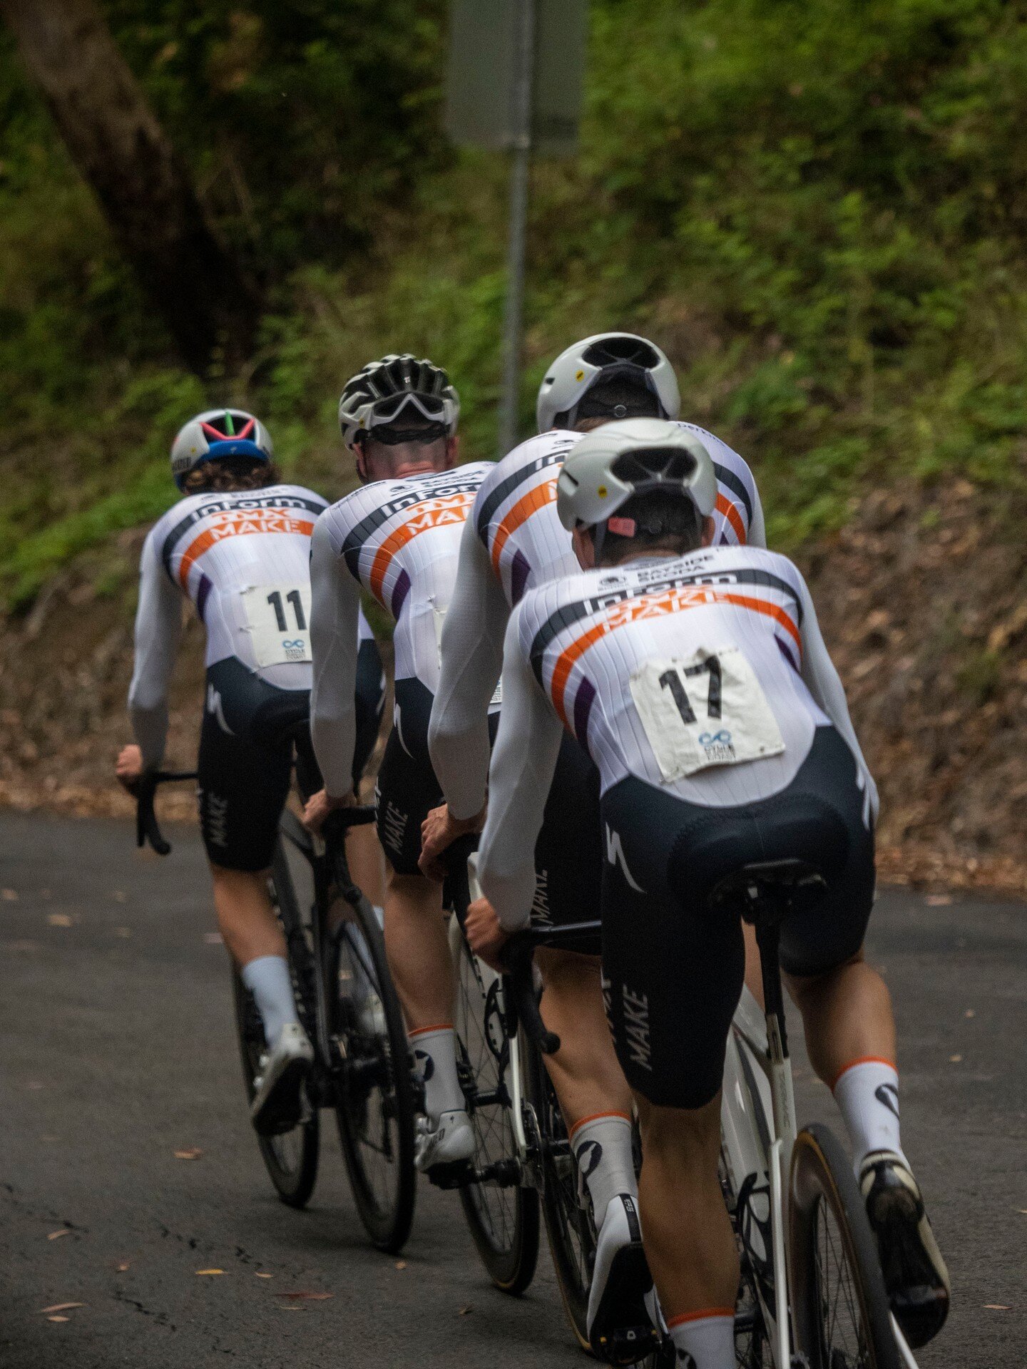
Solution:
{"label": "black road bike ridden by the cyclist numbered 11", "polygon": [[[153,795],[192,772],[144,776],[137,793],[137,845],[167,856]],[[374,821],[371,806],[341,808],[312,835],[286,809],[268,876],[285,936],[300,1021],[314,1046],[300,1120],[257,1136],[264,1166],[283,1202],[303,1207],[314,1192],[320,1112],[335,1114],[360,1220],[379,1250],[403,1249],[414,1221],[414,1118],[418,1095],[407,1031],[374,908],[349,873],[345,834]],[[299,888],[303,894],[297,893]],[[266,1051],[253,995],[233,973],[236,1024],[249,1101]]]}

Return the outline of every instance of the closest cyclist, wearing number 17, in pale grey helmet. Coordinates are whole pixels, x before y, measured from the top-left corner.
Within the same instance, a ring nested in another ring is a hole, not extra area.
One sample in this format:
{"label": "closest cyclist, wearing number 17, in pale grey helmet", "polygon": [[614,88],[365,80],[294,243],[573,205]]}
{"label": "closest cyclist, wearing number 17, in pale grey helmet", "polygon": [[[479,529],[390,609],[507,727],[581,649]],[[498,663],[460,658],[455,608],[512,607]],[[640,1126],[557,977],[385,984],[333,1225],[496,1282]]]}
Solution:
{"label": "closest cyclist, wearing number 17, in pale grey helmet", "polygon": [[719,1094],[745,950],[738,919],[707,898],[750,861],[815,867],[826,891],[782,928],[782,964],[917,1346],[949,1283],[901,1149],[889,994],[861,951],[876,790],[802,576],[711,545],[715,500],[705,445],[668,423],[616,423],[568,455],[557,512],[583,574],[526,594],[507,632],[468,936],[494,960],[529,920],[530,841],[566,728],[601,772],[604,991],[642,1131],[649,1265],[678,1359],[734,1369]]}

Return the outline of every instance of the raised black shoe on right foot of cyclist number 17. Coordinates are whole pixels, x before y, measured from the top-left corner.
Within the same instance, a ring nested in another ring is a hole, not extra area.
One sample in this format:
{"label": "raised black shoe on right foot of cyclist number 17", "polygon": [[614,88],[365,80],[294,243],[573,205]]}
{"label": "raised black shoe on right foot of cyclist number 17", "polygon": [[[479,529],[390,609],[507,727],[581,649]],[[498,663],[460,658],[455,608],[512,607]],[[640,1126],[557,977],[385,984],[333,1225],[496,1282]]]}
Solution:
{"label": "raised black shoe on right foot of cyclist number 17", "polygon": [[860,1166],[860,1192],[878,1240],[891,1312],[913,1350],[926,1346],[949,1314],[945,1268],[920,1187],[909,1165],[891,1150],[875,1150]]}

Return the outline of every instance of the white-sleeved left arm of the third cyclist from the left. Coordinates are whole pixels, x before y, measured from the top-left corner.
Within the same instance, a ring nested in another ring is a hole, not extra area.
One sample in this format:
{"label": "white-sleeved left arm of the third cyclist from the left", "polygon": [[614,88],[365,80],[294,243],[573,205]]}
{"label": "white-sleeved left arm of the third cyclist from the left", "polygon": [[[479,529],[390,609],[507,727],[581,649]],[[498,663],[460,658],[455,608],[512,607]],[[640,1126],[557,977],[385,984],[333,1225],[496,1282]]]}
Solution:
{"label": "white-sleeved left arm of the third cyclist from the left", "polygon": [[509,608],[474,523],[460,538],[453,598],[442,628],[442,671],[431,708],[429,750],[449,812],[475,817],[489,776],[489,702],[503,669]]}

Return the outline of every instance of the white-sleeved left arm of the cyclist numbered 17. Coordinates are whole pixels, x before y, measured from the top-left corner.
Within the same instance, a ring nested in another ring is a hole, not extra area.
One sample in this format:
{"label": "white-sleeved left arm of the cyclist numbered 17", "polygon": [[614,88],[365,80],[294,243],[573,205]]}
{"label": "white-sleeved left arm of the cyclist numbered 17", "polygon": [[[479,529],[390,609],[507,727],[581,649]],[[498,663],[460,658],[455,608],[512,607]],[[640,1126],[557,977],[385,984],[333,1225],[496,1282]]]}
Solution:
{"label": "white-sleeved left arm of the cyclist numbered 17", "polygon": [[478,872],[508,932],[524,927],[535,893],[535,841],[560,753],[563,728],[519,642],[520,615],[507,630],[503,712],[489,771],[489,816]]}

